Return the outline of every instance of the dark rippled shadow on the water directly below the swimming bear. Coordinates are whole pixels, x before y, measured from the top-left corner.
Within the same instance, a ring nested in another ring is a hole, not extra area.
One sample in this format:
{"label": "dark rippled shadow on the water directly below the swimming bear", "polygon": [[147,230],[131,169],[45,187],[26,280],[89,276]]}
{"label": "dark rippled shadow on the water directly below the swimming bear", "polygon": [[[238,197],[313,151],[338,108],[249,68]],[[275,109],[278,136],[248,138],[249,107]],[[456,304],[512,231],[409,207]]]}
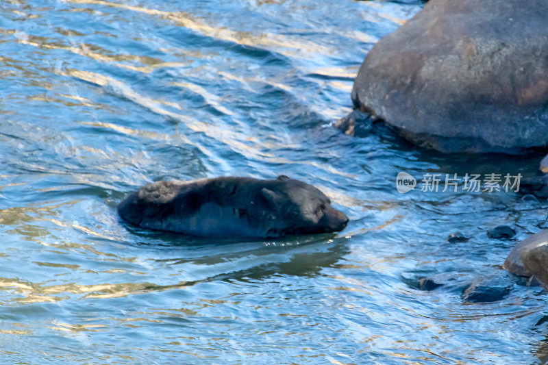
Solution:
{"label": "dark rippled shadow on the water directly below the swimming bear", "polygon": [[[154,249],[169,249],[170,258],[156,260],[170,265],[229,265],[227,272],[200,281],[260,279],[272,275],[318,275],[322,268],[333,266],[349,253],[347,238],[336,234],[290,236],[271,240],[197,238],[166,232],[128,228],[132,244]],[[177,251],[182,256],[177,257]],[[238,262],[241,262],[238,264]]]}

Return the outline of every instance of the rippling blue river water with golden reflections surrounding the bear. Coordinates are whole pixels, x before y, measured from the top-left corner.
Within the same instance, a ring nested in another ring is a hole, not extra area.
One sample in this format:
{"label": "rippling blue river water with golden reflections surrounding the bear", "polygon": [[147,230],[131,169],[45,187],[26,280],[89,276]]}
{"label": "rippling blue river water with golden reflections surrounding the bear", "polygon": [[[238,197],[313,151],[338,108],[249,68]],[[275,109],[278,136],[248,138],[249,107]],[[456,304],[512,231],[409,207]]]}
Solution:
{"label": "rippling blue river water with golden reflections surrounding the bear", "polygon": [[[0,359],[18,364],[530,364],[540,288],[504,276],[543,202],[399,194],[395,176],[523,173],[331,127],[375,42],[421,1],[10,0],[0,5]],[[129,227],[158,179],[289,175],[338,235],[201,242]],[[512,240],[487,238],[511,225]],[[461,231],[468,242],[447,243]],[[443,284],[418,290],[421,277]],[[464,288],[499,283],[492,303]]]}

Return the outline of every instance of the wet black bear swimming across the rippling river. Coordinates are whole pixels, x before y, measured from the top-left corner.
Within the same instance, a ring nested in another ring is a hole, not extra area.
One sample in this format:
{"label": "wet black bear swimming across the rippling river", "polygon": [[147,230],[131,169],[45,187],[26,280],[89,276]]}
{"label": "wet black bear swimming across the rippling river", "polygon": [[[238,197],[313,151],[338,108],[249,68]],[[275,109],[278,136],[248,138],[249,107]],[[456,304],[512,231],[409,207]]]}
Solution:
{"label": "wet black bear swimming across the rippling river", "polygon": [[274,180],[216,177],[157,181],[118,206],[127,222],[201,237],[269,238],[342,231],[348,217],[314,186],[284,175]]}

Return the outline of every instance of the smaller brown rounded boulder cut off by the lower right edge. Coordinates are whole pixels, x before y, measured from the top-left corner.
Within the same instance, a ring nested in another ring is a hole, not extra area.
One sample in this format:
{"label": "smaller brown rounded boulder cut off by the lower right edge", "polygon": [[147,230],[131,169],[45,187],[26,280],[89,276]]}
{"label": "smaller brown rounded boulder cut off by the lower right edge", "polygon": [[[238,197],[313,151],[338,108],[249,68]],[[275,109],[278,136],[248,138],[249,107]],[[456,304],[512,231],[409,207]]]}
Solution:
{"label": "smaller brown rounded boulder cut off by the lower right edge", "polygon": [[503,268],[514,275],[536,279],[548,288],[548,229],[518,242]]}

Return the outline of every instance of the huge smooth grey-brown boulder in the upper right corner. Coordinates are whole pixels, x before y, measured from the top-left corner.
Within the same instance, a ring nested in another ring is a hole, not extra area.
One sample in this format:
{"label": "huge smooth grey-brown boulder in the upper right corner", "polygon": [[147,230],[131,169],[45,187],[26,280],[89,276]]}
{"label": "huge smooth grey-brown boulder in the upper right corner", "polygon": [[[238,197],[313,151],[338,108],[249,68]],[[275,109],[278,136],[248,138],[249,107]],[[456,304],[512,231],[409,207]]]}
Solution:
{"label": "huge smooth grey-brown boulder in the upper right corner", "polygon": [[443,152],[548,144],[548,1],[431,0],[367,55],[354,106]]}

